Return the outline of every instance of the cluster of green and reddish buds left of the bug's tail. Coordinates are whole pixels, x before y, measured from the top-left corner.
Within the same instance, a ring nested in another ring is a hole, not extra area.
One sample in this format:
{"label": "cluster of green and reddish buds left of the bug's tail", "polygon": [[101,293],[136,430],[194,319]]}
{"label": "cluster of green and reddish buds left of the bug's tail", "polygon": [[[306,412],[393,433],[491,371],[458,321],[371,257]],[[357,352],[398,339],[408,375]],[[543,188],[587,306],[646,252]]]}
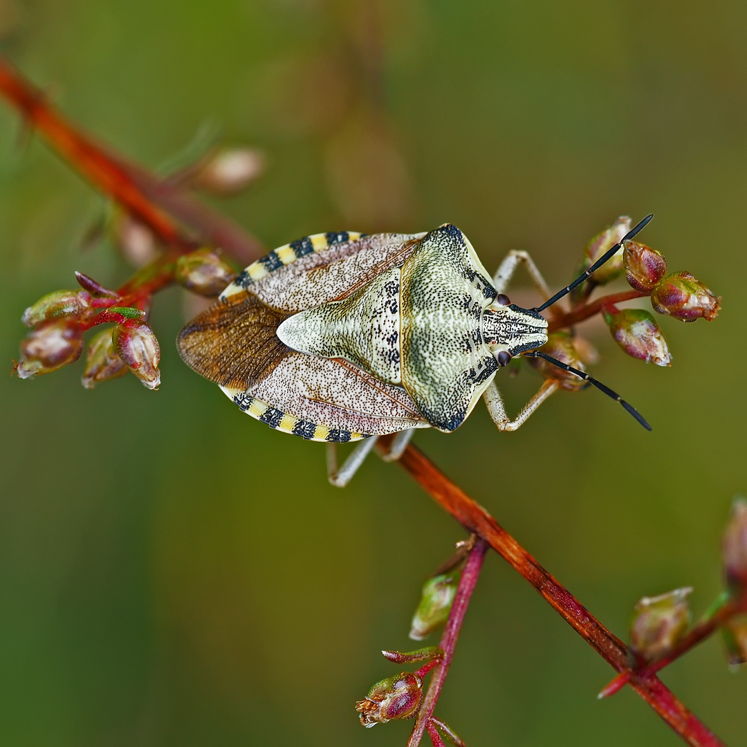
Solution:
{"label": "cluster of green and reddish buds left of the bug's tail", "polygon": [[104,329],[90,341],[82,384],[93,388],[131,371],[146,388],[157,388],[161,350],[143,320],[145,311],[114,306],[121,301],[115,291],[82,273],[75,276],[82,291],[55,291],[24,311],[22,321],[32,331],[21,343],[21,359],[16,365],[19,378],[52,373],[75,362],[84,349],[84,332],[114,322],[114,329]]}

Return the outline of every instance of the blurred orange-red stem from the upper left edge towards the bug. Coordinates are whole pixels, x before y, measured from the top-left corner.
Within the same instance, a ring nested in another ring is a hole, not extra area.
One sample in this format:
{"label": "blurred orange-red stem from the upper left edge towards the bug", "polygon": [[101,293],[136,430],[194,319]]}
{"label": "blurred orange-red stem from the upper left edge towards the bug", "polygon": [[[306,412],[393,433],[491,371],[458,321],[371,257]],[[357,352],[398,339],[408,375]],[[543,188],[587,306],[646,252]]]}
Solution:
{"label": "blurred orange-red stem from the upper left edge towards the bug", "polygon": [[238,224],[211,211],[179,187],[165,183],[140,166],[129,164],[96,143],[56,111],[44,92],[1,56],[0,95],[15,106],[25,121],[43,134],[69,164],[149,226],[167,246],[180,249],[179,253],[195,248],[194,241],[185,237],[167,215],[170,213],[194,229],[202,237],[201,241],[220,246],[242,261],[251,261],[264,253],[261,244]]}

